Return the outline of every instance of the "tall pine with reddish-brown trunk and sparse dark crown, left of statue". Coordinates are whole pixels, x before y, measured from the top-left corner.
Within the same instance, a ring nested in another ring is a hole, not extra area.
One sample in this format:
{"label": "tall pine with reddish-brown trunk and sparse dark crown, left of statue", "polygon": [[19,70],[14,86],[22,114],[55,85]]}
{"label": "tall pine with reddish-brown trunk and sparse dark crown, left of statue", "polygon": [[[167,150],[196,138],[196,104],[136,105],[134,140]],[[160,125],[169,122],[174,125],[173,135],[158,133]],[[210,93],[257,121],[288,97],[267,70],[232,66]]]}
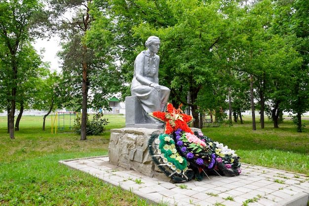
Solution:
{"label": "tall pine with reddish-brown trunk and sparse dark crown, left of statue", "polygon": [[[90,29],[90,24],[94,21],[89,14],[89,6],[92,0],[51,0],[49,5],[52,8],[51,21],[61,33],[61,38],[67,40],[63,44],[64,51],[60,53],[64,60],[63,76],[70,79],[72,76],[81,76],[81,97],[82,97],[82,118],[80,140],[86,139],[87,121],[87,100],[89,90],[88,73],[90,70],[92,52],[87,45],[81,42],[82,37]],[[73,16],[66,18],[66,12],[71,10]],[[79,82],[78,82],[79,84]]]}

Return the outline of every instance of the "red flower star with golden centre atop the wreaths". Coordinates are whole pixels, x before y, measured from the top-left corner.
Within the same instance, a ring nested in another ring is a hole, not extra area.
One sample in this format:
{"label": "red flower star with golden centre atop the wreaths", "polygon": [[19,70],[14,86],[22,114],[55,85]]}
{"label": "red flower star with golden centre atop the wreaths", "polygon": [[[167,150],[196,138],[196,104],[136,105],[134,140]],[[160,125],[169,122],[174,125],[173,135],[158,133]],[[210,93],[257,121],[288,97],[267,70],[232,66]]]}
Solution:
{"label": "red flower star with golden centre atop the wreaths", "polygon": [[190,132],[193,134],[193,131],[188,126],[188,124],[193,121],[193,117],[183,114],[180,109],[181,106],[182,105],[180,105],[178,109],[175,109],[171,103],[167,103],[167,112],[157,111],[149,113],[149,115],[157,120],[165,122],[165,134],[171,134],[178,128],[182,129],[185,132]]}

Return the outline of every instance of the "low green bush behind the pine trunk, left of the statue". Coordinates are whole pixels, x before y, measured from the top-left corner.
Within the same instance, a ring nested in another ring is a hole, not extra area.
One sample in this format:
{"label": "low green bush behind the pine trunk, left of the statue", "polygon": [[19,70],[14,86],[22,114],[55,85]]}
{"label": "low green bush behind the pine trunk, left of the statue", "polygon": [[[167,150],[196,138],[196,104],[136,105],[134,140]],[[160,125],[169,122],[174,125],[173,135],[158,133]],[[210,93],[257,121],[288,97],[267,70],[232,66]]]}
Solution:
{"label": "low green bush behind the pine trunk, left of the statue", "polygon": [[[98,135],[105,131],[103,125],[108,124],[108,119],[103,118],[103,113],[95,114],[92,120],[89,120],[89,114],[87,114],[87,123],[86,123],[86,134],[87,135]],[[74,131],[77,134],[80,134],[81,131],[81,116],[77,115]]]}

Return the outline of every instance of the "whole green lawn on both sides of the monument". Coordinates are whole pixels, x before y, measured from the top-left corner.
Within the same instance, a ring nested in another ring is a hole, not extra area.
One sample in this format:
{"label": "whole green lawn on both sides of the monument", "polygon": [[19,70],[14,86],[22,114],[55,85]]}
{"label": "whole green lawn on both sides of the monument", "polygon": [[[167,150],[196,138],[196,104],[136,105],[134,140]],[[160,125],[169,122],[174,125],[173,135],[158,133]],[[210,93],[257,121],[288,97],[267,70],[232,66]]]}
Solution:
{"label": "whole green lawn on both sides of the monument", "polygon": [[[58,163],[107,155],[109,130],[124,127],[124,116],[106,115],[110,122],[106,132],[88,136],[85,141],[80,141],[79,135],[70,130],[67,120],[64,130],[51,133],[51,118],[48,118],[46,129],[42,131],[42,117],[23,117],[20,130],[11,140],[7,134],[7,119],[0,117],[0,205],[147,205],[130,191],[122,191]],[[309,121],[303,123],[308,125]],[[248,118],[245,124],[207,127],[202,131],[236,150],[242,163],[309,175],[309,129],[305,127],[303,133],[298,133],[290,121],[279,126],[273,129],[272,124],[267,123],[265,129],[252,131]]]}

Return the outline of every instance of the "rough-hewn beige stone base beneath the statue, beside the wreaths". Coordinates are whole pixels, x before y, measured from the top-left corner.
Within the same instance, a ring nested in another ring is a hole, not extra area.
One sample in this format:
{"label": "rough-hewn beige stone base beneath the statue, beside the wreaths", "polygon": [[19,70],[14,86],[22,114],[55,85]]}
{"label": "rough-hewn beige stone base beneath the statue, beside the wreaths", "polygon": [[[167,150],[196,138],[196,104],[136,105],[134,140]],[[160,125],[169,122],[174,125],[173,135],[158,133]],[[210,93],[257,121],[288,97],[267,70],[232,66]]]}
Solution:
{"label": "rough-hewn beige stone base beneath the statue, beside the wreaths", "polygon": [[163,133],[163,129],[133,127],[111,129],[110,163],[170,182],[171,179],[157,168],[148,152],[148,141],[154,133]]}

